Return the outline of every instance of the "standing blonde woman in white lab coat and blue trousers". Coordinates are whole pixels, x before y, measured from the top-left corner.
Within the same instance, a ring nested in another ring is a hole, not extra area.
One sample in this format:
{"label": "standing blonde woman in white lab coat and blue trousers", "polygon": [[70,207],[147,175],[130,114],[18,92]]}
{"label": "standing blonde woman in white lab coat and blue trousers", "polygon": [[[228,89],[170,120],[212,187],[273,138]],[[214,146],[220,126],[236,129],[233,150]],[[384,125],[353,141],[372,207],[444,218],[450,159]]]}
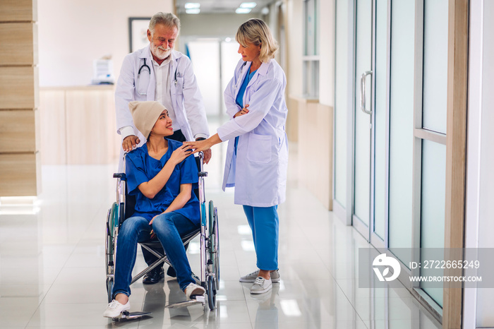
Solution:
{"label": "standing blonde woman in white lab coat and blue trousers", "polygon": [[234,202],[243,205],[251,226],[258,267],[240,282],[252,282],[251,294],[262,294],[279,282],[277,205],[285,200],[287,184],[287,82],[273,59],[277,42],[263,20],[246,21],[235,38],[242,59],[224,91],[230,120],[214,136],[184,144],[199,152],[229,140],[223,190],[235,186]]}

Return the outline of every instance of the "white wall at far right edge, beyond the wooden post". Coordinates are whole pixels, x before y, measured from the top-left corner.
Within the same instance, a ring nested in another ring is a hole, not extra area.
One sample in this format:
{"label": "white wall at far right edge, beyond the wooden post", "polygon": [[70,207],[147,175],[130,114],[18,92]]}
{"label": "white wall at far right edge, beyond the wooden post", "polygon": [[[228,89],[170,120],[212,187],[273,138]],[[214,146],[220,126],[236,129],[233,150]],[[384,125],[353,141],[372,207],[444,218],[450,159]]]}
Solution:
{"label": "white wall at far right edge, beyond the wooden post", "polygon": [[[494,248],[494,2],[473,0],[470,12],[466,248]],[[492,273],[481,273],[492,275]],[[466,270],[465,275],[478,275]],[[494,289],[465,289],[463,328],[494,328]]]}

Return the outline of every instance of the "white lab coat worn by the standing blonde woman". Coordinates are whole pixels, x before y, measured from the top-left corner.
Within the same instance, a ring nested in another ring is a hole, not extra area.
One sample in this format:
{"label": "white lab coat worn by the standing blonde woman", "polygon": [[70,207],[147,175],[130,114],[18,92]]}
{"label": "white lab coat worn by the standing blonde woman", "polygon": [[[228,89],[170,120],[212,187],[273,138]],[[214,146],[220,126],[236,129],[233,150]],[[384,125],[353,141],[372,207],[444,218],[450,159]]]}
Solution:
{"label": "white lab coat worn by the standing blonde woman", "polygon": [[[243,95],[243,104],[249,104],[249,112],[234,118],[241,110],[235,102],[236,95],[250,66],[251,62],[240,60],[224,91],[231,119],[217,130],[221,140],[229,140],[223,190],[235,186],[236,204],[270,207],[286,198],[288,109],[284,90],[287,79],[274,59],[261,64]],[[239,136],[239,145],[235,155],[236,136]]]}

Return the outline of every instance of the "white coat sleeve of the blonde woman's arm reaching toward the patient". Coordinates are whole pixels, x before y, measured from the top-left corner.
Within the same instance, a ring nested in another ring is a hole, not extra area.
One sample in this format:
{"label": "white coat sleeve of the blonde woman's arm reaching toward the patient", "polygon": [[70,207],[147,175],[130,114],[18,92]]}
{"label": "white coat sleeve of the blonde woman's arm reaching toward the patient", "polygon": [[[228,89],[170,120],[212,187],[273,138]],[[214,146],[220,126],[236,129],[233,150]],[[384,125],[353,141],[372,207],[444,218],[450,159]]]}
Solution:
{"label": "white coat sleeve of the blonde woman's arm reaching toward the patient", "polygon": [[237,116],[220,126],[217,130],[219,138],[225,141],[252,131],[263,121],[282,93],[283,83],[277,78],[260,83],[248,100],[248,114]]}

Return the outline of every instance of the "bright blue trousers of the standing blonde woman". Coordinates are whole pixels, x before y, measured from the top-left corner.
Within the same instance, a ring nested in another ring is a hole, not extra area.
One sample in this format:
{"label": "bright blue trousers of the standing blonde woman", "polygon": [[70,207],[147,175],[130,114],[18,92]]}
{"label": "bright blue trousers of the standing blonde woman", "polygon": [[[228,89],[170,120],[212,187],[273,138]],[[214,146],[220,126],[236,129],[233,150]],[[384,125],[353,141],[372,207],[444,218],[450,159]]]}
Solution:
{"label": "bright blue trousers of the standing blonde woman", "polygon": [[243,206],[246,213],[248,225],[252,229],[254,239],[255,255],[258,258],[260,270],[278,269],[278,206],[251,207]]}

